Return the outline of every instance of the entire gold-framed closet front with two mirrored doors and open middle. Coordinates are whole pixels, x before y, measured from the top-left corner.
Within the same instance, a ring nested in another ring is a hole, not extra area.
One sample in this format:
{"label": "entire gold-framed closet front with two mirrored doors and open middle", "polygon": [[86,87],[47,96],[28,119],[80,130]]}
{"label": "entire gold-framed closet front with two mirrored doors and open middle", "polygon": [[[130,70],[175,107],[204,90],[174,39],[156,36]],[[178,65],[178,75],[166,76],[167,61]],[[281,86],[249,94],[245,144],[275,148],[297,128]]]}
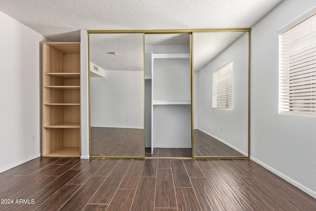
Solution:
{"label": "entire gold-framed closet front with two mirrored doors and open middle", "polygon": [[90,156],[247,157],[249,34],[88,31]]}

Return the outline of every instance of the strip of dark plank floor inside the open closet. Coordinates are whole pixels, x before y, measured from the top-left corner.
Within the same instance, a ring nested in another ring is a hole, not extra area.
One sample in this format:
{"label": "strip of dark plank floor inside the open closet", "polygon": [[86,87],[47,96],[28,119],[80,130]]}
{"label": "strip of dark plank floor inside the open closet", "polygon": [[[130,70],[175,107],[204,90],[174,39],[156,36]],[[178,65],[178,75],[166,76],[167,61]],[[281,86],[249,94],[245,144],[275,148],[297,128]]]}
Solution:
{"label": "strip of dark plank floor inside the open closet", "polygon": [[191,148],[154,148],[153,154],[151,154],[151,148],[146,148],[146,157],[167,157],[167,158],[191,158]]}

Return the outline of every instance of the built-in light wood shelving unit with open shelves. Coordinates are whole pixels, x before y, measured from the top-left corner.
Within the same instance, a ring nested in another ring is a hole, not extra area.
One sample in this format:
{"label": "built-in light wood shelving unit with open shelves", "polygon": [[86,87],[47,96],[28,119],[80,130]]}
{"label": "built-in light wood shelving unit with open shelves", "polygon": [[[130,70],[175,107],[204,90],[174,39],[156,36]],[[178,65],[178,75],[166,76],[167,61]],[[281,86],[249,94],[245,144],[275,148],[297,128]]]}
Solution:
{"label": "built-in light wood shelving unit with open shelves", "polygon": [[43,43],[42,156],[80,157],[80,43]]}

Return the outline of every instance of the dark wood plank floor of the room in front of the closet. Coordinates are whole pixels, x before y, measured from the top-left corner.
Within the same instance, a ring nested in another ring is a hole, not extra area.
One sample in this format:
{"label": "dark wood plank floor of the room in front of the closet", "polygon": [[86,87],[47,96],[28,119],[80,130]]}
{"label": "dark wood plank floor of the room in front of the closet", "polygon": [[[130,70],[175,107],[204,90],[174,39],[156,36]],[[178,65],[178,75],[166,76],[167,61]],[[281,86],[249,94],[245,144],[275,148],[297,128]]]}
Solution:
{"label": "dark wood plank floor of the room in front of the closet", "polygon": [[0,200],[0,211],[316,210],[250,160],[37,158],[0,173]]}

